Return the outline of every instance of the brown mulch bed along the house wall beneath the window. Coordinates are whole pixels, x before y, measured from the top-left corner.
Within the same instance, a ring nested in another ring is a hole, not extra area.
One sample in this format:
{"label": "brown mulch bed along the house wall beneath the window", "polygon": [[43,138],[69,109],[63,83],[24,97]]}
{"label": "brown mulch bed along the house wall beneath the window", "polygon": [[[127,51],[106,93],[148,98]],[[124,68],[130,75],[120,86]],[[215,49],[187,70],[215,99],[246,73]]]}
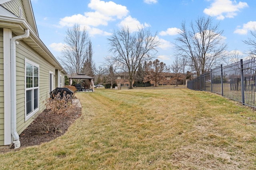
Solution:
{"label": "brown mulch bed along the house wall beneath the window", "polygon": [[[48,110],[45,109],[40,114],[45,114]],[[68,130],[68,127],[81,115],[81,107],[76,106],[66,111],[65,116],[62,117],[62,121],[58,126],[58,130],[56,131],[46,131],[42,129],[38,129],[37,123],[38,118],[34,119],[34,121],[20,134],[20,143],[21,146],[19,149],[40,145],[45,142],[52,141],[59,136],[64,135]],[[10,149],[0,149],[0,153],[8,152],[14,150],[14,145]],[[18,150],[18,149],[15,149]]]}

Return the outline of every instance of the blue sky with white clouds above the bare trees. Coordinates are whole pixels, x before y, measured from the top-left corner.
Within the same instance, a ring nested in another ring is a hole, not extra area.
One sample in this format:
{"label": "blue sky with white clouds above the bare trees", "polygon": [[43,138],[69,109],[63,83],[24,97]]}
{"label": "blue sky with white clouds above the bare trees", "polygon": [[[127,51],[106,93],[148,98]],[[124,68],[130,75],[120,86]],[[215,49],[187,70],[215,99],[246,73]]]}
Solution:
{"label": "blue sky with white clouds above the bare trees", "polygon": [[256,0],[31,0],[40,39],[58,59],[68,27],[79,23],[86,27],[92,41],[93,59],[104,63],[107,38],[114,29],[128,25],[144,26],[158,33],[160,47],[156,57],[166,65],[174,61],[174,39],[182,21],[187,25],[200,16],[212,16],[228,45],[246,57],[249,46],[242,40],[250,37],[256,26]]}

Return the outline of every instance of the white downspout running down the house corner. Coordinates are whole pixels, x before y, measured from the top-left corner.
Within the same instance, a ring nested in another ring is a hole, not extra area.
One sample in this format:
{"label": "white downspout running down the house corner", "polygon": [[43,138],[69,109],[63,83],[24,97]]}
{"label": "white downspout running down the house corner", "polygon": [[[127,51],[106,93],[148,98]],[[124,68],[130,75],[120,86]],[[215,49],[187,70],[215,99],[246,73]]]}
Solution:
{"label": "white downspout running down the house corner", "polygon": [[14,149],[20,147],[20,137],[17,133],[16,127],[16,44],[18,45],[18,40],[26,39],[29,36],[29,30],[25,29],[24,35],[18,35],[12,37],[10,41],[11,46],[11,133],[14,138]]}

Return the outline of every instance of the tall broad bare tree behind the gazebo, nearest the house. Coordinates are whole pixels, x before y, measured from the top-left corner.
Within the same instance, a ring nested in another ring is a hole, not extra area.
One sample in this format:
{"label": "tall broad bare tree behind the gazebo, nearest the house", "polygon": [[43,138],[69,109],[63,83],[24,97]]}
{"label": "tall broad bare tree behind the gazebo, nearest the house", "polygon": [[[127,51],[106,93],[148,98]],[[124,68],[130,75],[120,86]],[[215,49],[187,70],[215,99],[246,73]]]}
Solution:
{"label": "tall broad bare tree behind the gazebo, nearest the house", "polygon": [[67,29],[66,34],[60,61],[69,74],[78,74],[86,61],[88,33],[85,27],[80,30],[80,25],[75,24],[73,28]]}

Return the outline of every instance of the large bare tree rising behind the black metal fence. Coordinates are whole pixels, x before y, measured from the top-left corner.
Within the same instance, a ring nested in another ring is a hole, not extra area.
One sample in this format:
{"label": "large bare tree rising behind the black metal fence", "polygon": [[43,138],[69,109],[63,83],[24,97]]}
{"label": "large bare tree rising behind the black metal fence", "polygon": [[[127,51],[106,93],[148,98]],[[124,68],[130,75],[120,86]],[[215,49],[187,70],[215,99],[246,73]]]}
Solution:
{"label": "large bare tree rising behind the black metal fence", "polygon": [[204,74],[219,64],[224,57],[226,44],[222,36],[223,30],[218,30],[219,24],[214,25],[212,18],[201,17],[190,23],[190,30],[182,22],[179,37],[176,38],[176,51],[179,56],[188,57],[188,63],[197,76]]}

